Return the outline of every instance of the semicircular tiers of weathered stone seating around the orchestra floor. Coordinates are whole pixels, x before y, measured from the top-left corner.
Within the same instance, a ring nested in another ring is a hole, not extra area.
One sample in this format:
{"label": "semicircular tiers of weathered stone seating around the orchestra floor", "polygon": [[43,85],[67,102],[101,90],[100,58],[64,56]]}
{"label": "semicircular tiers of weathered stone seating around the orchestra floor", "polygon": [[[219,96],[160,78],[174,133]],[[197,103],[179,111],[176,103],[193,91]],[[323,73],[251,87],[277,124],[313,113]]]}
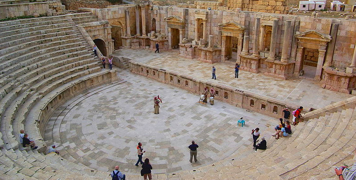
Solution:
{"label": "semicircular tiers of weathered stone seating around the orchestra floor", "polygon": [[[66,84],[102,73],[91,47],[74,23],[95,21],[94,17],[82,18],[85,16],[92,15],[80,13],[73,18],[53,16],[0,23],[0,179],[110,179],[108,172],[86,167],[68,151],[63,152],[66,158],[53,153],[45,155],[46,143],[33,119],[41,111],[43,99],[56,96],[55,92],[67,88]],[[355,102],[354,97],[350,99]],[[336,111],[313,116],[293,126],[293,134],[280,140],[271,137],[276,120],[270,120],[269,128],[262,132],[268,143],[265,151],[255,153],[251,144],[231,147],[236,152],[214,164],[153,177],[335,179],[335,166],[354,162],[355,109],[355,105],[340,106]],[[18,139],[20,129],[25,129],[36,141],[38,151],[22,148]],[[141,176],[131,174],[127,178],[141,179]]]}

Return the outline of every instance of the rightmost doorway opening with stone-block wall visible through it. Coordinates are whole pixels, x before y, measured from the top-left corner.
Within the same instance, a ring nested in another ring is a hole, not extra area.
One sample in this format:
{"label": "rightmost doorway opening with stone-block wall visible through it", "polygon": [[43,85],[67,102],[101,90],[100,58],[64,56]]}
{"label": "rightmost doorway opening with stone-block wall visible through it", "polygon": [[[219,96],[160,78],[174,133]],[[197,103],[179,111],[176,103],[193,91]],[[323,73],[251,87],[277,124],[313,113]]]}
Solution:
{"label": "rightmost doorway opening with stone-block wall visible through it", "polygon": [[302,70],[303,77],[314,79],[316,73],[316,66],[318,65],[319,51],[318,49],[304,48],[303,50]]}

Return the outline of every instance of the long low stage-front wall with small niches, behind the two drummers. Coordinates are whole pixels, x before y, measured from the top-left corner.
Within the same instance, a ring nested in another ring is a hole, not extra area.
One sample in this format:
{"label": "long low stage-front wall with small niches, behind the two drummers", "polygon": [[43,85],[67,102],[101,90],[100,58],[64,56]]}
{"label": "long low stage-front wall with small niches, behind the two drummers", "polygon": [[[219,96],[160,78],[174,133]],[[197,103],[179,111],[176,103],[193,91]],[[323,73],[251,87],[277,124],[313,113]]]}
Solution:
{"label": "long low stage-front wall with small niches, behind the two drummers", "polygon": [[[195,94],[201,94],[204,87],[213,87],[216,91],[216,100],[275,118],[283,117],[282,109],[285,107],[289,107],[290,109],[297,108],[296,105],[286,104],[278,99],[261,96],[253,92],[242,91],[235,87],[226,86],[213,81],[200,80],[171,70],[157,69],[156,67],[144,65],[132,60],[129,61],[129,67],[133,73],[146,76],[162,83],[172,84],[173,86],[186,89]],[[197,96],[197,102],[198,100],[199,96]]]}

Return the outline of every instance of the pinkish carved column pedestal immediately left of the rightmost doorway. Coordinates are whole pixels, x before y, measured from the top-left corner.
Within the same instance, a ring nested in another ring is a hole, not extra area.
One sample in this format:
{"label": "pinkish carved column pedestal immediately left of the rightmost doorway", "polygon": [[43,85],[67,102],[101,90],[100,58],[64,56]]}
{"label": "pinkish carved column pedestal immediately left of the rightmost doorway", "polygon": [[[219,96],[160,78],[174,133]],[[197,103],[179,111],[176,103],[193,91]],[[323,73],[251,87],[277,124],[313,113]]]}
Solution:
{"label": "pinkish carved column pedestal immediately left of the rightmost doorway", "polygon": [[286,80],[293,76],[295,61],[289,60],[281,62],[278,60],[271,61],[266,59],[267,71],[264,73],[267,76],[272,76]]}

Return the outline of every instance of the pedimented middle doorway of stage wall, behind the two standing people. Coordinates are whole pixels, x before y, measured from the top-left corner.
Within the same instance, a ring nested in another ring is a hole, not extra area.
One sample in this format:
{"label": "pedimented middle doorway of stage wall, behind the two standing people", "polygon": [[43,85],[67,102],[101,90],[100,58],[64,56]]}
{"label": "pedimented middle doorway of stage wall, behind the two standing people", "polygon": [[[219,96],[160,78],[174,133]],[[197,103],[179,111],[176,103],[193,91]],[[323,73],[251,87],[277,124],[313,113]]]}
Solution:
{"label": "pedimented middle doorway of stage wall, behind the two standing people", "polygon": [[[219,24],[219,27],[221,28],[221,61],[224,62],[232,59],[233,63],[235,63],[240,59],[242,37],[244,36],[246,27],[234,21]],[[232,57],[233,38],[237,38],[236,58]]]}

